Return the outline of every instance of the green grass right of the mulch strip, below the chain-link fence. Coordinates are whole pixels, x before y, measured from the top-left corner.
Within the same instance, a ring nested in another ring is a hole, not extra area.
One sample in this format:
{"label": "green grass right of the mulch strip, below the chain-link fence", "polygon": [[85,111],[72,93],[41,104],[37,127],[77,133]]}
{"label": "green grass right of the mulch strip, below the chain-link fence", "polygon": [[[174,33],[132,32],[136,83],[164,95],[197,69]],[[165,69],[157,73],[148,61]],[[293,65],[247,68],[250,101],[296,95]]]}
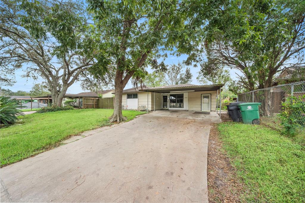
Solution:
{"label": "green grass right of the mulch strip, below the chain-link fence", "polygon": [[305,147],[259,125],[218,125],[224,149],[249,187],[246,202],[305,202]]}

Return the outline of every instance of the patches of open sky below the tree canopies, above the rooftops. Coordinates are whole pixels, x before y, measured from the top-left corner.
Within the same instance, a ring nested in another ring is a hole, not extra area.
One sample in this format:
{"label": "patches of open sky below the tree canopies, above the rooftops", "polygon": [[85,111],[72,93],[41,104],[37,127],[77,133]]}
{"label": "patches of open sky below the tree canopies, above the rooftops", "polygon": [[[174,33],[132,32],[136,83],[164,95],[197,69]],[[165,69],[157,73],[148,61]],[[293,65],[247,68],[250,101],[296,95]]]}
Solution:
{"label": "patches of open sky below the tree canopies, above the rooftops", "polygon": [[[165,59],[165,64],[177,64],[178,61],[182,62],[183,60],[186,60],[187,55],[181,55],[179,57],[177,56],[172,56],[172,55],[168,55],[168,57]],[[196,77],[198,76],[198,71],[200,70],[200,67],[191,67],[191,73],[193,74],[193,80],[192,80],[192,84],[195,85],[199,85],[199,83],[196,80]],[[152,72],[152,70],[150,68],[148,68],[147,70],[149,73]],[[231,73],[231,78],[235,79],[236,78],[236,73],[235,70],[230,70]],[[23,90],[23,91],[30,91],[32,86],[35,83],[40,83],[43,82],[43,80],[40,78],[36,81],[34,81],[32,78],[22,78],[21,75],[23,74],[23,71],[20,69],[18,71],[16,71],[15,73],[15,77],[16,77],[16,83],[13,86],[2,86],[3,89],[10,89],[14,92],[18,91],[18,90]],[[125,87],[125,89],[128,88],[132,88],[132,84],[131,81],[129,81]],[[77,94],[80,92],[88,92],[88,90],[82,90],[81,89],[81,85],[80,82],[75,82],[73,85],[71,85],[69,87],[69,89],[67,90],[66,93],[70,93],[70,94]]]}

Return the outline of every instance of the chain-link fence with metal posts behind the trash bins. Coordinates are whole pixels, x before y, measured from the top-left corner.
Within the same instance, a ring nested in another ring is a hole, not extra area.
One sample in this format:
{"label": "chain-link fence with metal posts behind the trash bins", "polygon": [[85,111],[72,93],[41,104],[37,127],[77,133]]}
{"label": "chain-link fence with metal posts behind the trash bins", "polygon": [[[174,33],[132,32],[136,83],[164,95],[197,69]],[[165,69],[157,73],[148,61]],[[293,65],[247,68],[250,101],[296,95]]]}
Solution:
{"label": "chain-link fence with metal posts behind the trash bins", "polygon": [[[260,102],[261,121],[267,125],[273,125],[279,122],[277,114],[282,112],[282,102],[285,102],[289,96],[302,97],[303,95],[305,95],[305,81],[242,93],[238,95],[238,101]],[[299,122],[305,128],[305,100],[303,101]]]}

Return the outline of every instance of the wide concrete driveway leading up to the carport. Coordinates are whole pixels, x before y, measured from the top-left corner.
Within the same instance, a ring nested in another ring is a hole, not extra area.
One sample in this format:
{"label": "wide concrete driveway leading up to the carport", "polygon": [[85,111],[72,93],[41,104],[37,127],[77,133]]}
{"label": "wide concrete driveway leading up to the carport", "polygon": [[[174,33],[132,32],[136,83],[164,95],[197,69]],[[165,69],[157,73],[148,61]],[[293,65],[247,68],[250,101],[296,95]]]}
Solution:
{"label": "wide concrete driveway leading up to the carport", "polygon": [[2,202],[208,202],[216,113],[156,111],[1,169]]}

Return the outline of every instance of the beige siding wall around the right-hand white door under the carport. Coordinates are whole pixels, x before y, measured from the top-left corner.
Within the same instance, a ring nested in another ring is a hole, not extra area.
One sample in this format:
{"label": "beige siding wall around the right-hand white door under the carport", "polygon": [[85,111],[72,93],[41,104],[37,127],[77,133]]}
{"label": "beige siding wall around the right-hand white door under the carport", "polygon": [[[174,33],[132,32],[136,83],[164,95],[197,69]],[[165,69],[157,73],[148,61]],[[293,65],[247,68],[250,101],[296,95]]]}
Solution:
{"label": "beige siding wall around the right-hand white door under the carport", "polygon": [[211,94],[211,111],[216,111],[217,91],[188,92],[188,110],[201,111],[201,94]]}

